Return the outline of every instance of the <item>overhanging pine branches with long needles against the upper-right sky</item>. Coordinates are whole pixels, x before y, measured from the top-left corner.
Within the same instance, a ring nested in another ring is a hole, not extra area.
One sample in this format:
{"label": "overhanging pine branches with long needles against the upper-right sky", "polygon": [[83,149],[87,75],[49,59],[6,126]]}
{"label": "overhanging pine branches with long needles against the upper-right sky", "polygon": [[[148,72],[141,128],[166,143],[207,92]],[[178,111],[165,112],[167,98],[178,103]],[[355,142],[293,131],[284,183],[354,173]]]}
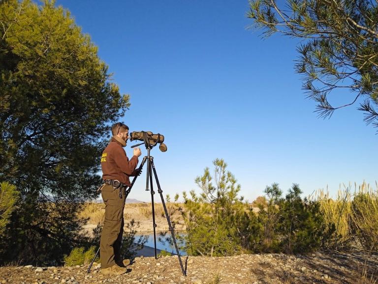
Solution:
{"label": "overhanging pine branches with long needles against the upper-right sky", "polygon": [[[321,117],[360,102],[364,120],[378,127],[377,1],[251,0],[247,16],[266,36],[301,39],[295,69]],[[333,106],[328,99],[337,90],[354,95]]]}

